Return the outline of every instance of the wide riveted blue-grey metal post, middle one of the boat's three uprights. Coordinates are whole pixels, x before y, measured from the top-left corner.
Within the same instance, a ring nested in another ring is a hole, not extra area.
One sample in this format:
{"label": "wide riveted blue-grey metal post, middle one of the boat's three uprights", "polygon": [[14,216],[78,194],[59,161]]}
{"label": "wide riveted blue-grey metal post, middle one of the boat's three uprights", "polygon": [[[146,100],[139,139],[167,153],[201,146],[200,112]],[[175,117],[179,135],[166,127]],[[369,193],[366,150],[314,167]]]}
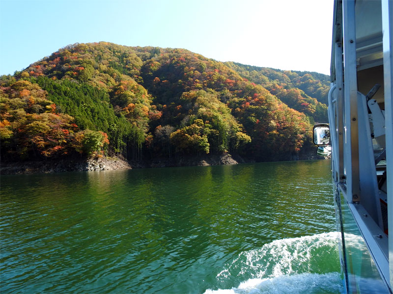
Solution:
{"label": "wide riveted blue-grey metal post, middle one of the boat's three uprights", "polygon": [[355,0],[342,1],[344,36],[345,171],[347,199],[360,201]]}

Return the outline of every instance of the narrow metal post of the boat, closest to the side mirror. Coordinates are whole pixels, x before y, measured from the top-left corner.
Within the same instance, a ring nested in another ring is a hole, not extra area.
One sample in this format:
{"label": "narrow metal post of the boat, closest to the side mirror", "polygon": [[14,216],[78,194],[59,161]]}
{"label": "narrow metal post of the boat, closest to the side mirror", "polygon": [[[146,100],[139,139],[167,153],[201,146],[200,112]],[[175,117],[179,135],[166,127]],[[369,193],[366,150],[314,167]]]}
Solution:
{"label": "narrow metal post of the boat, closest to the side mirror", "polygon": [[342,46],[341,40],[335,45],[335,61],[336,61],[336,85],[337,85],[337,112],[336,112],[336,132],[337,132],[337,147],[338,147],[338,182],[345,182],[344,177],[344,128],[343,128],[343,83],[342,83]]}

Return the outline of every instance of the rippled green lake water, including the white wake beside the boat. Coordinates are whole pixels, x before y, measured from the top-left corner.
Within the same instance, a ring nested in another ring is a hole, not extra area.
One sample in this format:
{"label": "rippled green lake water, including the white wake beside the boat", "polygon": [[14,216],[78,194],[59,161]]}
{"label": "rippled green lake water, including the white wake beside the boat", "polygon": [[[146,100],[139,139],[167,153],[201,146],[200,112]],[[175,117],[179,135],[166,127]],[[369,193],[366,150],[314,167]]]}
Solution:
{"label": "rippled green lake water, including the white wake beside the boat", "polygon": [[339,293],[330,161],[1,176],[1,293]]}

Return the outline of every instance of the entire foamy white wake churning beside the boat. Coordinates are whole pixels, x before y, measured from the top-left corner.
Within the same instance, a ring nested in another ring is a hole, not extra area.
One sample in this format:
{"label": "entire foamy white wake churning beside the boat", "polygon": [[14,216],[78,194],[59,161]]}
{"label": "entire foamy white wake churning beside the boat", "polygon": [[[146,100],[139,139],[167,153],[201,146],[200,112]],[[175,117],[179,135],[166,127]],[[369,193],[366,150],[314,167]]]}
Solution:
{"label": "entire foamy white wake churning beside the boat", "polygon": [[205,294],[342,293],[337,238],[330,232],[281,239],[241,252],[217,275],[218,289]]}

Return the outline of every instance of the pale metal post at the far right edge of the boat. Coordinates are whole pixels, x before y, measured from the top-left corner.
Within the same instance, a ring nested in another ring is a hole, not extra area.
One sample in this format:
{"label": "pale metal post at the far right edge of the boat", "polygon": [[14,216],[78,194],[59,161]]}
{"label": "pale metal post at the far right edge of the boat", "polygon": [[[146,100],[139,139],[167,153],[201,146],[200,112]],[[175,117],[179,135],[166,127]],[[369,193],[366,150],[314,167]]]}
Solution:
{"label": "pale metal post at the far right edge of the boat", "polygon": [[389,271],[393,288],[393,1],[382,1],[384,54],[386,173],[388,194]]}

